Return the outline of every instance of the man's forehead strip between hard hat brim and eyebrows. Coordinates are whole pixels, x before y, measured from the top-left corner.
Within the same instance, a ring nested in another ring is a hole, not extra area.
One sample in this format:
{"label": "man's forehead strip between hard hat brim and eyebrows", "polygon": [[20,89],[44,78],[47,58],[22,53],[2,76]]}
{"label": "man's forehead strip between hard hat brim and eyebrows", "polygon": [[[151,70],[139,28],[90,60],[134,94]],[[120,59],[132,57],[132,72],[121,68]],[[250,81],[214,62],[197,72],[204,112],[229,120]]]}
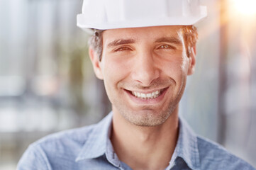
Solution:
{"label": "man's forehead strip between hard hat brim and eyebrows", "polygon": [[179,39],[182,26],[153,26],[143,28],[118,28],[105,30],[102,34],[104,44],[113,40],[123,38],[140,41],[140,40],[156,40],[163,37],[174,37]]}

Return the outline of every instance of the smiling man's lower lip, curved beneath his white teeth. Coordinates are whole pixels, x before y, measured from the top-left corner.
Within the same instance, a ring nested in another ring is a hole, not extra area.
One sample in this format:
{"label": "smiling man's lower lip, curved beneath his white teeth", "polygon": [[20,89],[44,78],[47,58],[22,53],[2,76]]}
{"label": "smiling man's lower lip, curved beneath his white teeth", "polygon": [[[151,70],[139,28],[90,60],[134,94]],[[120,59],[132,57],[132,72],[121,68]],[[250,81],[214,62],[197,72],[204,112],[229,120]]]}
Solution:
{"label": "smiling man's lower lip, curved beneath his white teeth", "polygon": [[160,96],[157,96],[157,98],[150,98],[150,99],[143,99],[143,98],[138,98],[133,96],[133,94],[130,93],[130,91],[126,91],[126,94],[132,99],[133,102],[139,104],[139,105],[152,105],[152,104],[157,104],[160,103],[160,101],[163,100],[165,97],[165,94],[167,93],[168,88],[164,89],[162,91],[162,94]]}

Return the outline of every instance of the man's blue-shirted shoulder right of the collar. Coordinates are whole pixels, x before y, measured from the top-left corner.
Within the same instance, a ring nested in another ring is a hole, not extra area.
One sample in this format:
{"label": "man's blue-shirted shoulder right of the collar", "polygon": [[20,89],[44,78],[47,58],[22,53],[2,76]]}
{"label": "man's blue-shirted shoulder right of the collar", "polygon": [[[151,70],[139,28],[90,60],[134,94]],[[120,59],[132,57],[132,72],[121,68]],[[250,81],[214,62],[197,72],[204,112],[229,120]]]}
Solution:
{"label": "man's blue-shirted shoulder right of the collar", "polygon": [[244,169],[255,170],[250,164],[228,152],[216,142],[197,137],[201,169]]}

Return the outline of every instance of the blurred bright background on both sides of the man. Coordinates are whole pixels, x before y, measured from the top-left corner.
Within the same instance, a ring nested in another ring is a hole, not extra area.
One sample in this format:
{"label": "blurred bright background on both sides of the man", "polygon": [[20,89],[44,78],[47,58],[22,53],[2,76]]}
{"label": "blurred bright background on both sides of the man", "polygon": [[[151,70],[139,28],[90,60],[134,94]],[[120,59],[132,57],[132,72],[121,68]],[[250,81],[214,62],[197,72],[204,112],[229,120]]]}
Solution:
{"label": "blurred bright background on both sides of the man", "polygon": [[[196,72],[180,111],[191,127],[256,166],[256,1],[202,0]],[[31,142],[110,110],[94,76],[82,0],[0,0],[0,169]]]}

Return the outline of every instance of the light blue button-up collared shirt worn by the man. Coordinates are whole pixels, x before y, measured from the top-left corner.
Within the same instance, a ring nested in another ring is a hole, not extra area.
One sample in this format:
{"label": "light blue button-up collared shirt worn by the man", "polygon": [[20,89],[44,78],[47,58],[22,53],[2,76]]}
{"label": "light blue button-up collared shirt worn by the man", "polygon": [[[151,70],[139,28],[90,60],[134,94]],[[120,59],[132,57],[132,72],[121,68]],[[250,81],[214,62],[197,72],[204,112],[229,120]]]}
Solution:
{"label": "light blue button-up collared shirt worn by the man", "polygon": [[[28,147],[18,170],[130,169],[113,150],[112,113],[96,125],[59,132]],[[179,118],[179,137],[166,169],[255,169],[216,143],[198,137]]]}

